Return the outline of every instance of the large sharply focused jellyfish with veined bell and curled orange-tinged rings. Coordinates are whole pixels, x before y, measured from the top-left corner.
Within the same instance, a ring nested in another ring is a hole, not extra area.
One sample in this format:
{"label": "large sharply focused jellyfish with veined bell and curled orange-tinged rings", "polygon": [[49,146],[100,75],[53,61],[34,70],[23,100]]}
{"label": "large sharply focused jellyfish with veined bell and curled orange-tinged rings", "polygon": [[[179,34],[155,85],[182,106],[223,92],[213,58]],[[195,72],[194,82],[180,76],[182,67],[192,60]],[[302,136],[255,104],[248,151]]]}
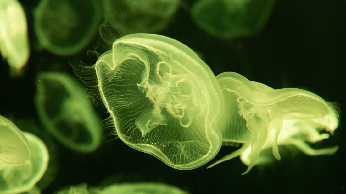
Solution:
{"label": "large sharply focused jellyfish with veined bell and curled orange-tinged rings", "polygon": [[208,65],[186,45],[130,34],[99,57],[95,70],[117,135],[130,147],[180,170],[219,151],[222,94]]}

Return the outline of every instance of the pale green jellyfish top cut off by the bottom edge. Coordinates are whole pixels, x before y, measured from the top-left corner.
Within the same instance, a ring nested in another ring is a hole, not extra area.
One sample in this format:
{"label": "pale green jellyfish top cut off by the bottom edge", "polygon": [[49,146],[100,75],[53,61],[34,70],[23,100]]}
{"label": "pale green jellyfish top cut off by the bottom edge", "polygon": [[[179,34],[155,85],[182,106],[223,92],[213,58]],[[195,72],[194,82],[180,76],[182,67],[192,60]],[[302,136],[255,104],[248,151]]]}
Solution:
{"label": "pale green jellyfish top cut off by the bottom edge", "polygon": [[155,182],[120,183],[103,188],[102,194],[187,194],[181,188]]}

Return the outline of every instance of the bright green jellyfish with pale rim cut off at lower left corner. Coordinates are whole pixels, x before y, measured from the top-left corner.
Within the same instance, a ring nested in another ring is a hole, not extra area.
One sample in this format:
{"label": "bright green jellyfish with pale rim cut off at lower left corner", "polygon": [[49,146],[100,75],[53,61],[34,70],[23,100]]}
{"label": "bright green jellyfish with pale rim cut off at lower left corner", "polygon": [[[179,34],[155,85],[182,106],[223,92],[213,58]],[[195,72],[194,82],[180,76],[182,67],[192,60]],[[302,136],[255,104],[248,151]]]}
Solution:
{"label": "bright green jellyfish with pale rim cut off at lower left corner", "polygon": [[48,150],[37,136],[0,116],[0,193],[31,190],[48,167]]}

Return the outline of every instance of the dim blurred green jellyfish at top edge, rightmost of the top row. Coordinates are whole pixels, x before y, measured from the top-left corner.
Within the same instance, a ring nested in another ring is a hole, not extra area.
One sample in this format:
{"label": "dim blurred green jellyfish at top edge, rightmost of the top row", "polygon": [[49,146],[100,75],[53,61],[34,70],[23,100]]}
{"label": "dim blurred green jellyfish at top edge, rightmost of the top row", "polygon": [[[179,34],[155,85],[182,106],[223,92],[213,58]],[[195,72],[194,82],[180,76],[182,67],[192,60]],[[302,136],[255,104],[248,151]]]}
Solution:
{"label": "dim blurred green jellyfish at top edge, rightmost of the top row", "polygon": [[220,39],[252,35],[266,24],[275,0],[199,0],[191,8],[193,21]]}

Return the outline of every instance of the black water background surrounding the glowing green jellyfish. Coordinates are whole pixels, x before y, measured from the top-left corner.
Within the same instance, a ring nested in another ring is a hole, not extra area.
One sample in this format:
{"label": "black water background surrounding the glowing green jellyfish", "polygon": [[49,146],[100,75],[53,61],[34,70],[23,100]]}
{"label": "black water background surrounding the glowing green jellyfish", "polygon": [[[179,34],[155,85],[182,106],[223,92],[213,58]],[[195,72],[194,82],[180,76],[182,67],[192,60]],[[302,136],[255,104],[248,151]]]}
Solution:
{"label": "black water background surrounding the glowing green jellyfish", "polygon": [[[38,50],[31,12],[36,3],[22,1],[31,44],[25,74],[11,79],[8,65],[3,61],[0,64],[0,114],[15,124],[26,120],[39,125],[33,101],[37,72],[60,70],[73,74],[69,60],[79,59],[86,64],[96,60],[86,54],[93,49],[92,43],[71,57],[58,57]],[[191,2],[187,4],[191,5]],[[339,103],[343,113],[346,103],[345,21],[345,0],[278,0],[265,28],[252,37],[234,41],[213,38],[197,28],[182,8],[160,34],[199,51],[216,75],[234,71],[275,89],[305,88],[327,101]],[[208,163],[198,169],[180,171],[149,154],[131,149],[120,139],[105,140],[96,152],[90,154],[70,151],[54,141],[57,173],[43,193],[53,193],[58,188],[82,182],[97,186],[109,176],[116,182],[165,182],[189,193],[346,193],[345,138],[341,114],[335,135],[315,145],[316,148],[339,145],[335,155],[286,155],[272,165],[254,167],[247,175],[241,175],[246,166],[239,158],[211,169],[206,169]],[[234,150],[222,147],[213,161]]]}

